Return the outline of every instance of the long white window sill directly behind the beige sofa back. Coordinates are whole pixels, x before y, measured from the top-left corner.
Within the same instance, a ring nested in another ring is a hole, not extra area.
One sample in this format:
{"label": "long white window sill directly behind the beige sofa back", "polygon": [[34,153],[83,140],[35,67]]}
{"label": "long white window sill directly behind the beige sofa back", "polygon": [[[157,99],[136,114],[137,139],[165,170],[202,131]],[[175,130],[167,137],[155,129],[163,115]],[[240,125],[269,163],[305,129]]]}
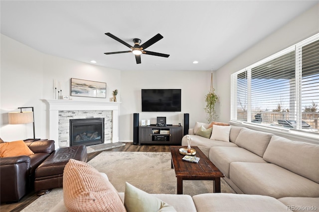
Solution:
{"label": "long white window sill directly behind the beige sofa back", "polygon": [[312,143],[317,145],[319,144],[319,133],[290,130],[286,128],[280,129],[275,127],[267,127],[263,125],[257,125],[257,124],[248,123],[248,122],[240,122],[235,120],[231,120],[229,123],[234,126],[242,126],[242,127],[247,127],[253,130],[273,133],[275,135],[282,136],[294,141],[307,142],[307,143]]}

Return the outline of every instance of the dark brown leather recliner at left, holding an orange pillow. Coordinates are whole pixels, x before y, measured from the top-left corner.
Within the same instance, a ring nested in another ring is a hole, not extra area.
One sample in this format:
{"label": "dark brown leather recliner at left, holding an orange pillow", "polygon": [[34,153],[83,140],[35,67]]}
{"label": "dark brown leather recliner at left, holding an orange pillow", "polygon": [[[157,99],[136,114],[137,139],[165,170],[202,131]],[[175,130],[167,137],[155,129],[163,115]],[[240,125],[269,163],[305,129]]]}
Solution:
{"label": "dark brown leather recliner at left, holding an orange pillow", "polygon": [[30,156],[0,158],[0,200],[17,202],[33,189],[35,169],[54,151],[53,140],[25,142]]}

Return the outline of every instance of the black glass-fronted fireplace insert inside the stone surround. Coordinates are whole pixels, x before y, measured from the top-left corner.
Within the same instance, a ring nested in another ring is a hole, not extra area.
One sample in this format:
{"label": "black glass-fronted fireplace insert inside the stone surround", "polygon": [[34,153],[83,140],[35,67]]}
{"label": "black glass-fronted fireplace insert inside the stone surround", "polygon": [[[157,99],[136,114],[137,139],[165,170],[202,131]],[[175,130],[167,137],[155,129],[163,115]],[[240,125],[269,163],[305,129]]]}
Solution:
{"label": "black glass-fronted fireplace insert inside the stone surround", "polygon": [[70,146],[104,143],[104,118],[70,119]]}

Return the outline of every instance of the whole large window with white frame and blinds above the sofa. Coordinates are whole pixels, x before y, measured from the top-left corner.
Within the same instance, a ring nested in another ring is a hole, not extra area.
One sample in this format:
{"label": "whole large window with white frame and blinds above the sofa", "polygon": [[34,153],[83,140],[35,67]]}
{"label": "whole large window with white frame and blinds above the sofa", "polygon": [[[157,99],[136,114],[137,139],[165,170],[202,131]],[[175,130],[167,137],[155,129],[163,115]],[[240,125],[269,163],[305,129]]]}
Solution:
{"label": "whole large window with white frame and blinds above the sofa", "polygon": [[232,74],[231,119],[319,133],[319,34]]}

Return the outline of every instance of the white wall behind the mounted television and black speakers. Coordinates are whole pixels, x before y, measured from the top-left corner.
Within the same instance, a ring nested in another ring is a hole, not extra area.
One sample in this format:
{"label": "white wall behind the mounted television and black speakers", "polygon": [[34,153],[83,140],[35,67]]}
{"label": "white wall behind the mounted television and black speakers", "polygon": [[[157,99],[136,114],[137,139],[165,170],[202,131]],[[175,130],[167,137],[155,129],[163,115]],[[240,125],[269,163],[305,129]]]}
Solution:
{"label": "white wall behind the mounted television and black speakers", "polygon": [[[204,97],[210,88],[209,71],[122,71],[120,141],[133,140],[133,113],[156,124],[157,116],[166,123],[183,125],[183,113],[189,113],[189,124],[207,122]],[[141,89],[181,89],[181,112],[142,112]]]}

